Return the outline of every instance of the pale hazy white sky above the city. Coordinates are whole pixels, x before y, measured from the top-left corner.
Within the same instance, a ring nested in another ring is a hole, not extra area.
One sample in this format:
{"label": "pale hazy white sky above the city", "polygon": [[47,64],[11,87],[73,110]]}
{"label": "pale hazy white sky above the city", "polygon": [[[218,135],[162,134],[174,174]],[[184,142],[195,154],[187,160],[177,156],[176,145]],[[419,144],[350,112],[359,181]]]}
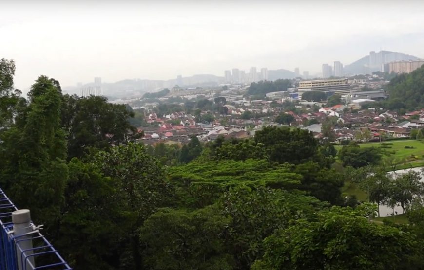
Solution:
{"label": "pale hazy white sky above the city", "polygon": [[[423,2],[423,3],[422,3]],[[237,67],[311,74],[380,48],[424,57],[424,1],[0,1],[0,58],[21,90]]]}

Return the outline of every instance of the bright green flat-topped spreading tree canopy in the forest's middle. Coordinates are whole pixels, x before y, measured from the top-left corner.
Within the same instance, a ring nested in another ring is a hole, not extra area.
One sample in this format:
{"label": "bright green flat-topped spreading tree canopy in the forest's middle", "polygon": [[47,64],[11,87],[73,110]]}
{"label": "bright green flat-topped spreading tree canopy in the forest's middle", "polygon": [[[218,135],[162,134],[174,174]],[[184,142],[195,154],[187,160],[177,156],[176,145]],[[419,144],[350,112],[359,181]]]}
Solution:
{"label": "bright green flat-topped spreading tree canopy in the forest's middle", "polygon": [[184,206],[204,207],[231,186],[268,186],[292,190],[300,186],[301,176],[285,165],[265,160],[190,162],[172,167],[170,181],[178,186],[177,197]]}

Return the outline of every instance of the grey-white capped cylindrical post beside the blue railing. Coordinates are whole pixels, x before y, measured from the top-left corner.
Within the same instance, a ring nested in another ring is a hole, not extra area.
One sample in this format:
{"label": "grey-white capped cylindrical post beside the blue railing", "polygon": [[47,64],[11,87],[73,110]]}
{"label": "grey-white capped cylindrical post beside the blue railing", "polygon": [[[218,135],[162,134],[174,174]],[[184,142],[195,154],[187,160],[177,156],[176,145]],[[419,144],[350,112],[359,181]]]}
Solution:
{"label": "grey-white capped cylindrical post beside the blue railing", "polygon": [[[33,227],[31,225],[31,215],[28,209],[21,209],[12,212],[12,222],[13,222],[13,232],[15,241],[18,241],[16,244],[16,258],[18,260],[18,269],[19,270],[33,270],[34,269],[34,257],[31,256],[27,260],[23,255],[32,255],[33,251],[27,251],[22,255],[24,250],[32,249],[32,240],[31,236],[25,235],[18,237],[19,235],[27,234],[33,231]],[[24,240],[28,239],[28,240]],[[23,241],[22,241],[23,240]],[[22,261],[26,261],[25,264]]]}

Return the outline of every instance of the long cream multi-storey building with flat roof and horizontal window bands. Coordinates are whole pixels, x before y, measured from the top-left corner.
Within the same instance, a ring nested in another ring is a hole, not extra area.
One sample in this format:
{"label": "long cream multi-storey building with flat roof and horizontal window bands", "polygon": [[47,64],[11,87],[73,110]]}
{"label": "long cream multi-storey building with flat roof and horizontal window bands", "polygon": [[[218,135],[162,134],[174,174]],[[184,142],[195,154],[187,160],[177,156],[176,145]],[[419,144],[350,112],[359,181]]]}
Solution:
{"label": "long cream multi-storey building with flat roof and horizontal window bands", "polygon": [[324,92],[327,95],[347,95],[350,93],[350,84],[347,79],[301,81],[297,91],[299,100],[302,100],[302,94],[310,91]]}

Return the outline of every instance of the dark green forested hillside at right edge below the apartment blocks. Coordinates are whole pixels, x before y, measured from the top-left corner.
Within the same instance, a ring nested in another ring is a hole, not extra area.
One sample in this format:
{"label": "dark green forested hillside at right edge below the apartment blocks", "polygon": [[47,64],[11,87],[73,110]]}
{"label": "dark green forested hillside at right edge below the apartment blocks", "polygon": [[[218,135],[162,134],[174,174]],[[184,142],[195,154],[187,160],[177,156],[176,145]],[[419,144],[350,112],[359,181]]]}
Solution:
{"label": "dark green forested hillside at right edge below the apartment blocks", "polygon": [[399,74],[388,84],[385,107],[407,111],[424,108],[424,67],[409,74]]}

